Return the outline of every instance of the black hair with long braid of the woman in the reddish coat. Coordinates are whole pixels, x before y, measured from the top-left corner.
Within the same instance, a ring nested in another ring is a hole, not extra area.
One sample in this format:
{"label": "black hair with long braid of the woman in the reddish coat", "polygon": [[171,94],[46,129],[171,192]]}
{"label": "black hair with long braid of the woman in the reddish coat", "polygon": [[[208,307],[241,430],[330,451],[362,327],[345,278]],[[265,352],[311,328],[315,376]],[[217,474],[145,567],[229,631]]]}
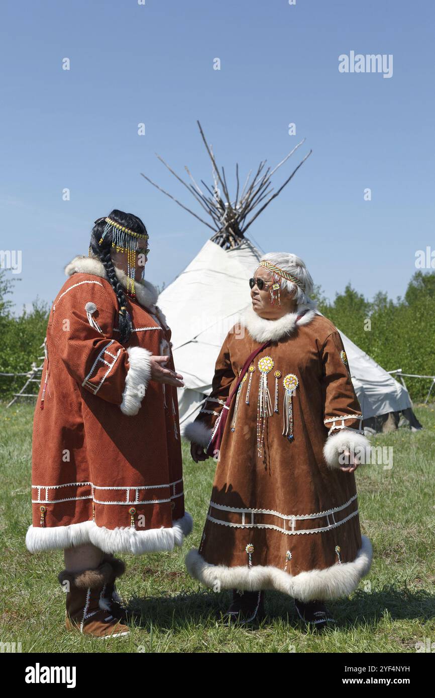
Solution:
{"label": "black hair with long braid of the woman in the reddish coat", "polygon": [[[133,230],[133,232],[138,232],[144,234],[147,232],[147,228],[142,223],[138,216],[133,216],[133,214],[126,214],[124,211],[119,211],[118,209],[113,209],[110,211],[108,218],[112,218],[112,221],[119,223],[119,225],[124,225],[125,228]],[[98,219],[94,228],[91,232],[91,242],[89,248],[91,253],[98,257],[104,266],[105,273],[107,274],[108,281],[115,291],[118,308],[119,308],[119,341],[121,343],[126,343],[130,339],[132,332],[131,317],[130,313],[127,311],[127,299],[124,293],[124,288],[119,281],[117,274],[115,272],[115,266],[112,262],[112,255],[110,251],[112,249],[112,230],[109,230],[103,238],[103,242],[100,243],[101,237],[103,237],[103,232],[106,226],[104,218]]]}

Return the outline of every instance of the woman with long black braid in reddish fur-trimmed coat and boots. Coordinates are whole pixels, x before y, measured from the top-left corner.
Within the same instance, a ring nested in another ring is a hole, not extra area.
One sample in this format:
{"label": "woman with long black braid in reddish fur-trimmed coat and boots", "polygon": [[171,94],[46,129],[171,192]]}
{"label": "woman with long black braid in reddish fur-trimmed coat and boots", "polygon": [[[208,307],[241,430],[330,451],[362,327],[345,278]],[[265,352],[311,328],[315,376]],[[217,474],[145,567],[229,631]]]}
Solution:
{"label": "woman with long black braid in reddish fur-trimmed coat and boots", "polygon": [[190,533],[184,511],[170,329],[142,279],[148,235],[115,209],[89,257],[67,265],[47,326],[34,416],[31,552],[65,550],[66,626],[128,634],[116,553],[170,551]]}

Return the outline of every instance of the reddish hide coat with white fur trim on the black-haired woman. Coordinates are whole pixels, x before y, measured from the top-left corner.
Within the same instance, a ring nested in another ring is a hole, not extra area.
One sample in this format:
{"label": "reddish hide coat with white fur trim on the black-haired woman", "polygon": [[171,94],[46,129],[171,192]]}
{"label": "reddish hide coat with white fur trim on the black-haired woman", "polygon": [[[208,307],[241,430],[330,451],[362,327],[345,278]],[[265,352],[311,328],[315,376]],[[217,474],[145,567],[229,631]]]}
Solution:
{"label": "reddish hide coat with white fur trim on the black-haired woman", "polygon": [[[170,329],[154,286],[127,299],[133,332],[119,341],[117,297],[96,258],[65,269],[47,326],[34,416],[30,551],[93,543],[107,553],[171,550],[190,533],[184,511],[177,389],[151,380]],[[121,284],[126,275],[117,270]]]}

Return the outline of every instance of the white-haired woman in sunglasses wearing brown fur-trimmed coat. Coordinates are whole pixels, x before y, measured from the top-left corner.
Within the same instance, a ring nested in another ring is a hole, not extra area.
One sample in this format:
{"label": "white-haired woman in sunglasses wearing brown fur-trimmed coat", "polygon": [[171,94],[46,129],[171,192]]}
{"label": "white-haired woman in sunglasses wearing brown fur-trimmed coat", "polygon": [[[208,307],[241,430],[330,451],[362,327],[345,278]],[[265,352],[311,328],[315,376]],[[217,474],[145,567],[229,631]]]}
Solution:
{"label": "white-haired woman in sunglasses wearing brown fur-trimmed coat", "polygon": [[212,392],[184,431],[196,462],[246,359],[270,346],[230,403],[200,549],[186,565],[214,591],[233,588],[228,622],[260,617],[264,590],[276,589],[323,628],[325,600],[352,593],[371,565],[353,475],[368,441],[343,343],[309,298],[304,262],[265,255],[250,285],[244,333],[228,333]]}

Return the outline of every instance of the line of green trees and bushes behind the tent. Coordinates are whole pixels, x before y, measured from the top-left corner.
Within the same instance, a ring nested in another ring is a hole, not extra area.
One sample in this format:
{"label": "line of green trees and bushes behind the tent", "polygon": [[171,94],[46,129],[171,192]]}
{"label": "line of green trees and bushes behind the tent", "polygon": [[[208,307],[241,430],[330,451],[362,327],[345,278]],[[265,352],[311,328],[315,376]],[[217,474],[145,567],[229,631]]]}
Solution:
{"label": "line of green trees and bushes behind the tent", "polygon": [[[43,355],[49,307],[36,299],[31,310],[13,314],[13,283],[0,272],[0,372],[25,373]],[[349,283],[333,302],[316,288],[320,311],[386,371],[435,375],[435,273],[415,272],[404,298],[378,292],[369,301]],[[0,376],[0,399],[9,400],[24,377]],[[414,401],[425,399],[431,380],[406,378]],[[33,389],[37,385],[31,384]],[[30,387],[30,386],[29,386]]]}

